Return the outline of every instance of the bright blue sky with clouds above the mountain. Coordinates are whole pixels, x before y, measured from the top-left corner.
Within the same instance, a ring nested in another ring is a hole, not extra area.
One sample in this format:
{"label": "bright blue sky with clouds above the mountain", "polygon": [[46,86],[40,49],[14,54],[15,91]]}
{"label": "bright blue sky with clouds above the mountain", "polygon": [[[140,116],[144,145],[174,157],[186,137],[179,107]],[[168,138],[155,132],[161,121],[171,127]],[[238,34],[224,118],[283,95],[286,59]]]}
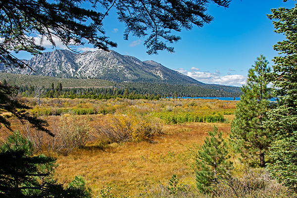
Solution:
{"label": "bright blue sky with clouds above the mountain", "polygon": [[[229,8],[209,4],[207,13],[214,21],[202,28],[176,33],[182,40],[168,44],[174,53],[160,51],[158,55],[148,55],[143,46],[146,38],[129,37],[123,40],[124,25],[111,12],[104,21],[106,35],[118,44],[112,50],[123,55],[131,55],[144,60],[154,60],[165,67],[177,70],[203,83],[241,86],[247,79],[247,70],[260,54],[266,56],[273,65],[272,58],[278,53],[273,45],[285,39],[274,33],[274,26],[266,14],[271,8],[295,6],[293,0],[232,0]],[[45,42],[45,45],[47,43]],[[63,49],[57,44],[57,49]],[[82,51],[92,46],[79,47]],[[54,49],[48,48],[47,51]],[[19,53],[20,58],[31,56]]]}

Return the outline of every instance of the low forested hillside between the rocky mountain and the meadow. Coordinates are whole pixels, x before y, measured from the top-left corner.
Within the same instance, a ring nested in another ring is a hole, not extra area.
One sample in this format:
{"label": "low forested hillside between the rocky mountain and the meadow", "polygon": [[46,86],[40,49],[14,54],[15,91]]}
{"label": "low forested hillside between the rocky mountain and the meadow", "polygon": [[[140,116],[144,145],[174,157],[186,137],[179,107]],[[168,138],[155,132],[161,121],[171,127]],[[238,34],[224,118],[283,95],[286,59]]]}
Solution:
{"label": "low forested hillside between the rocky mountain and the meadow", "polygon": [[[46,97],[87,97],[96,98],[93,95],[105,95],[107,98],[118,95],[142,95],[160,97],[239,97],[241,95],[239,87],[207,85],[173,85],[161,83],[113,83],[99,79],[63,79],[43,76],[32,76],[24,74],[0,73],[0,81],[5,81],[9,85],[19,87],[19,93],[24,96],[34,96],[36,88],[42,88]],[[58,85],[62,85],[62,90],[55,93]],[[49,93],[51,91],[51,94]],[[47,94],[48,93],[48,94]],[[106,98],[105,97],[105,98]],[[153,97],[153,98],[154,98]],[[159,97],[159,98],[160,98]]]}

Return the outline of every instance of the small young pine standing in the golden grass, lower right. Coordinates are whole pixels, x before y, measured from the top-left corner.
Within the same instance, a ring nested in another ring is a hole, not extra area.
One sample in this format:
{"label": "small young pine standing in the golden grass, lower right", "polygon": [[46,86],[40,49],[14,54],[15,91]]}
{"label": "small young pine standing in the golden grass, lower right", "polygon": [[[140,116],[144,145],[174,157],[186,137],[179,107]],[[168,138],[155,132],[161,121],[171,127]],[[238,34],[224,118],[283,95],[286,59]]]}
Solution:
{"label": "small young pine standing in the golden grass, lower right", "polygon": [[210,138],[204,140],[202,149],[198,151],[196,171],[198,190],[205,194],[215,192],[216,185],[220,180],[229,179],[232,170],[222,132],[218,133],[218,128],[214,126],[208,134]]}

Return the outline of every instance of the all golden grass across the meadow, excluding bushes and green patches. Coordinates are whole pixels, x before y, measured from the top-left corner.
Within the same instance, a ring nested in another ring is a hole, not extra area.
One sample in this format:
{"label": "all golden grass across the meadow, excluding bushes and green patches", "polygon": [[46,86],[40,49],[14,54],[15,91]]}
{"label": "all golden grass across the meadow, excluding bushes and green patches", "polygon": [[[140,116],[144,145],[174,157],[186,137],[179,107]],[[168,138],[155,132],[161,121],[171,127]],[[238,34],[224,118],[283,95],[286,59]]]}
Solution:
{"label": "all golden grass across the meadow, excluding bushes and green patches", "polygon": [[[23,99],[27,104],[33,99]],[[149,100],[91,100],[91,99],[44,99],[42,107],[60,108],[77,107],[96,110],[112,108],[113,112],[138,113],[160,112],[193,112],[207,109],[213,112],[223,112],[226,123],[184,123],[178,125],[163,125],[163,133],[144,142],[127,142],[111,144],[103,148],[96,147],[94,142],[85,148],[76,149],[67,156],[55,155],[59,166],[55,177],[62,183],[68,183],[76,175],[81,175],[88,187],[98,196],[103,187],[112,187],[113,194],[119,196],[127,191],[128,195],[139,196],[149,189],[157,188],[159,184],[167,186],[169,179],[176,174],[180,183],[195,188],[195,159],[197,150],[204,143],[208,131],[217,125],[227,137],[230,133],[230,123],[234,117],[236,101],[220,101],[208,99],[166,99]],[[111,111],[111,112],[112,112]],[[63,116],[70,116],[64,114]],[[74,115],[88,123],[91,128],[107,122],[107,115]],[[49,129],[54,127],[53,120],[60,116],[45,116],[49,121]],[[19,129],[19,121],[9,118],[12,128]],[[4,128],[0,129],[4,132]],[[1,133],[1,139],[7,134]]]}

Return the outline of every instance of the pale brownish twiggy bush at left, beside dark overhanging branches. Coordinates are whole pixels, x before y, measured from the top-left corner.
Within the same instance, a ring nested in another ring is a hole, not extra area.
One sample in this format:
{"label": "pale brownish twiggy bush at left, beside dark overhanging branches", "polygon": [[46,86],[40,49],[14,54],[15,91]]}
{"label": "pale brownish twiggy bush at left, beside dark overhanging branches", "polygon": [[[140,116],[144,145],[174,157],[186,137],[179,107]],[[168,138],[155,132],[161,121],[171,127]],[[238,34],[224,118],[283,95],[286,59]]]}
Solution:
{"label": "pale brownish twiggy bush at left, beside dark overhanging branches", "polygon": [[49,121],[49,130],[54,137],[37,131],[29,125],[22,125],[22,133],[29,139],[38,152],[67,155],[75,148],[84,147],[92,130],[85,119],[64,114]]}

